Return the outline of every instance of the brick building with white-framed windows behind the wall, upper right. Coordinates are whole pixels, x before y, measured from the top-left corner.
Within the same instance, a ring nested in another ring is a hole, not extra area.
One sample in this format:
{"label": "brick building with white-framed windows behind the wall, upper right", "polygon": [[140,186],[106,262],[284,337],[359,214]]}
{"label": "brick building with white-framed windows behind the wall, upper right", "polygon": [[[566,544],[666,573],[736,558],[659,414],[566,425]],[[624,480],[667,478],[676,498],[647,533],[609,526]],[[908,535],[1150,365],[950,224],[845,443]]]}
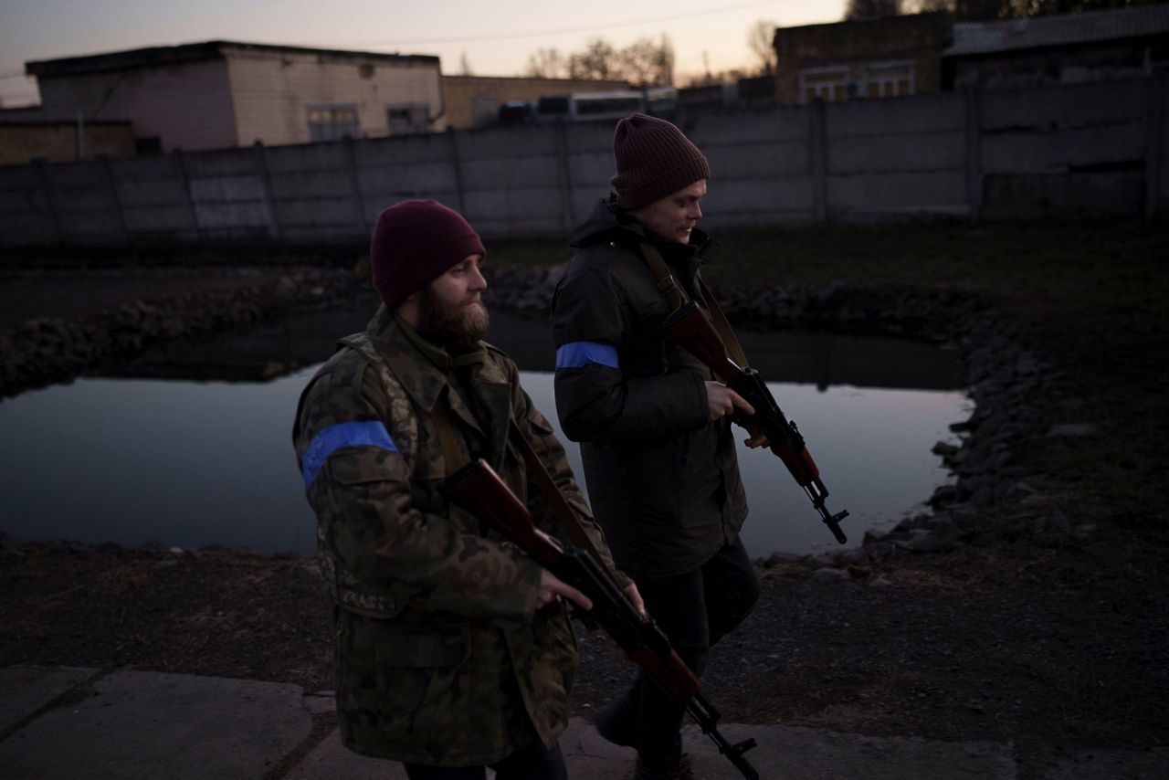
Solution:
{"label": "brick building with white-framed windows behind the wall, upper right", "polygon": [[810,103],[936,92],[948,34],[943,14],[776,28],[775,98]]}

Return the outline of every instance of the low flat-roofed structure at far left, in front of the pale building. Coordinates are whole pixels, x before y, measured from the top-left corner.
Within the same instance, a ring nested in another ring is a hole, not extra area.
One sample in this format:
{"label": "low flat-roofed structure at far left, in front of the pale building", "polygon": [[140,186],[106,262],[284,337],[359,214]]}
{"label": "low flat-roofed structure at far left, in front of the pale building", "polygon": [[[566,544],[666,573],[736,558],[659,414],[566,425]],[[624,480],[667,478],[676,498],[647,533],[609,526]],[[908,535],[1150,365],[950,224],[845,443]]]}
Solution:
{"label": "low flat-roofed structure at far left, in front of the pale building", "polygon": [[134,132],[129,122],[0,120],[0,165],[35,160],[74,163],[133,154]]}

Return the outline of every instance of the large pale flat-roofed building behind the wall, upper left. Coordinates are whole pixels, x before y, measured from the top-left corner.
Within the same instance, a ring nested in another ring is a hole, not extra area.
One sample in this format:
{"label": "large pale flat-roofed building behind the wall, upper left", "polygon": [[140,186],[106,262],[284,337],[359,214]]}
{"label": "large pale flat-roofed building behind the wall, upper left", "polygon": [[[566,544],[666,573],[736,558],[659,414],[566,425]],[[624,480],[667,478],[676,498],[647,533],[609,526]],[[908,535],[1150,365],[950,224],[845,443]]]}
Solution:
{"label": "large pale flat-roofed building behind the wall, upper left", "polygon": [[209,41],[28,62],[46,120],[133,124],[141,152],[445,127],[438,57]]}

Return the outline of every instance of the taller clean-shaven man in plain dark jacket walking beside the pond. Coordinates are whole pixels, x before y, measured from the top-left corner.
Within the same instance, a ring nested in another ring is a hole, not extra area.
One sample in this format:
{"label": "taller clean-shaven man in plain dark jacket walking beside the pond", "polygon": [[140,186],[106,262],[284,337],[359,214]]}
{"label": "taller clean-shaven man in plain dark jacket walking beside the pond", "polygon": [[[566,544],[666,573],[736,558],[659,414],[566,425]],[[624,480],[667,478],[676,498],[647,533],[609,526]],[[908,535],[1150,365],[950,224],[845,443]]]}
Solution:
{"label": "taller clean-shaven man in plain dark jacket walking beside the pond", "polygon": [[[710,316],[698,269],[713,247],[696,227],[706,157],[675,125],[641,113],[617,123],[613,151],[616,193],[570,236],[576,255],[553,298],[556,410],[565,435],[581,442],[593,509],[617,564],[701,675],[711,647],[760,593],[739,539],[747,499],[731,430],[735,409],[754,409],[664,329],[672,298],[691,298]],[[595,724],[606,739],[637,748],[637,780],[664,780],[685,773],[683,716],[642,674]]]}

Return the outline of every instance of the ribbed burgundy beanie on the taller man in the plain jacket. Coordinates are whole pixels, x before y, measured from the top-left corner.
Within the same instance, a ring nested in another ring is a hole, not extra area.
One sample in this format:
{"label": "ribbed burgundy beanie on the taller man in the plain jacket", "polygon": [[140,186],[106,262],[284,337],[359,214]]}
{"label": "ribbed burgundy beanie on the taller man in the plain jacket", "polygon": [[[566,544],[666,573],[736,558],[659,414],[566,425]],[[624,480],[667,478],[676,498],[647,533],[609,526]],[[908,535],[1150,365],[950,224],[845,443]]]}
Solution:
{"label": "ribbed burgundy beanie on the taller man in the plain jacket", "polygon": [[617,191],[617,206],[629,210],[711,178],[706,158],[680,130],[644,113],[617,123],[613,156],[617,175],[609,182]]}

